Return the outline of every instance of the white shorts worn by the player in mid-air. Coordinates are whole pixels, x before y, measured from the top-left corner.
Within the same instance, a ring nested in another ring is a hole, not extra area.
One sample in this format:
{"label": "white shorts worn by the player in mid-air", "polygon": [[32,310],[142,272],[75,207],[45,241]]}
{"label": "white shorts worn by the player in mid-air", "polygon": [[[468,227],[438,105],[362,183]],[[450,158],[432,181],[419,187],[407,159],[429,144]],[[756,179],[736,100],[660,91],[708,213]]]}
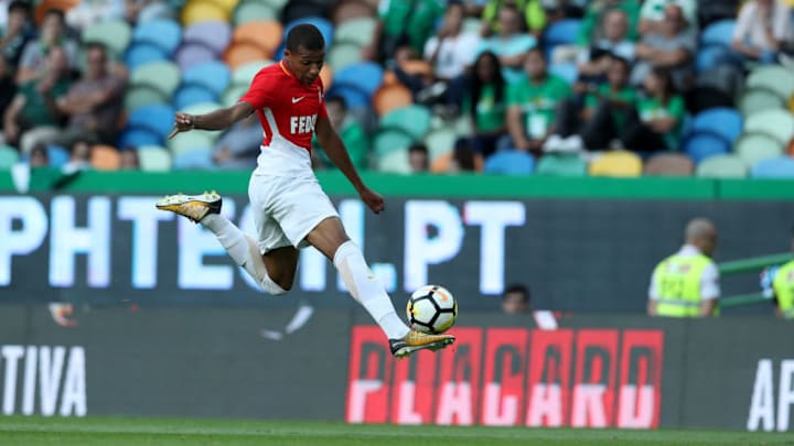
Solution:
{"label": "white shorts worn by the player in mid-air", "polygon": [[255,174],[248,198],[262,254],[289,246],[305,248],[305,237],[320,221],[339,217],[316,178]]}

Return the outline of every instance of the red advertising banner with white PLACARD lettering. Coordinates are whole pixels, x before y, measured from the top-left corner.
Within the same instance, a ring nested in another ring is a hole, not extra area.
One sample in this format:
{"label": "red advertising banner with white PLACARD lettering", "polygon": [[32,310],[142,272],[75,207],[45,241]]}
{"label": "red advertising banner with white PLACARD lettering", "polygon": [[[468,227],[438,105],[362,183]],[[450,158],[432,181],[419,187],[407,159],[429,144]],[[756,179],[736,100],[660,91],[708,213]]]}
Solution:
{"label": "red advertising banner with white PLACARD lettering", "polygon": [[458,327],[453,347],[395,361],[352,333],[350,423],[655,428],[664,331]]}

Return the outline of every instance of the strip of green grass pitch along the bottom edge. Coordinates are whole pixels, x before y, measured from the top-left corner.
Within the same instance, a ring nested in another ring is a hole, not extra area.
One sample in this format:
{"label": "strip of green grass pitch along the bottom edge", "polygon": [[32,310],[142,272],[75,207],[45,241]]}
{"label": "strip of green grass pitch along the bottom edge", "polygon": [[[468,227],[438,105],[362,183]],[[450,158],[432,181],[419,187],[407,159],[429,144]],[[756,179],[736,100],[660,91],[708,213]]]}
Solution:
{"label": "strip of green grass pitch along the bottom edge", "polygon": [[0,416],[0,445],[794,445],[791,433]]}

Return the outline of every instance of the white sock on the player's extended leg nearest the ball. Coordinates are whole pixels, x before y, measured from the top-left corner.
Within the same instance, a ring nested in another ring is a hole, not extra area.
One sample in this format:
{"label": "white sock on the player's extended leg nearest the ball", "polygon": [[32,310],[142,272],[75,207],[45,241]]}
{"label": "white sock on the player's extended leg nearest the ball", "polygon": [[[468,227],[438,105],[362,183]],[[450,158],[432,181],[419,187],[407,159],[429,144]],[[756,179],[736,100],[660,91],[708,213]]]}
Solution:
{"label": "white sock on the player's extended leg nearest the ball", "polygon": [[408,334],[408,326],[397,316],[391,300],[380,281],[367,266],[358,247],[347,240],[334,253],[334,266],[351,295],[361,302],[389,339],[400,339]]}

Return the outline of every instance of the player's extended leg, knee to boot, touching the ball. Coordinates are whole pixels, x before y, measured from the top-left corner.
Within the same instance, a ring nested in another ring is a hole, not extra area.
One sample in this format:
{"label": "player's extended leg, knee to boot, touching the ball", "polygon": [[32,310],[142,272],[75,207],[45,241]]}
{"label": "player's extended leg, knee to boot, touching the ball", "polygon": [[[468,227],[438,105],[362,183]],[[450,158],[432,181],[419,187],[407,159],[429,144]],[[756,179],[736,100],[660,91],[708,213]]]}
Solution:
{"label": "player's extended leg, knee to boot, touching the ball", "polygon": [[345,233],[339,218],[322,220],[309,232],[307,240],[333,261],[351,295],[361,302],[388,337],[391,353],[396,357],[421,349],[438,350],[454,342],[454,337],[450,335],[426,335],[408,328],[397,316],[386,290],[367,266],[361,249]]}

